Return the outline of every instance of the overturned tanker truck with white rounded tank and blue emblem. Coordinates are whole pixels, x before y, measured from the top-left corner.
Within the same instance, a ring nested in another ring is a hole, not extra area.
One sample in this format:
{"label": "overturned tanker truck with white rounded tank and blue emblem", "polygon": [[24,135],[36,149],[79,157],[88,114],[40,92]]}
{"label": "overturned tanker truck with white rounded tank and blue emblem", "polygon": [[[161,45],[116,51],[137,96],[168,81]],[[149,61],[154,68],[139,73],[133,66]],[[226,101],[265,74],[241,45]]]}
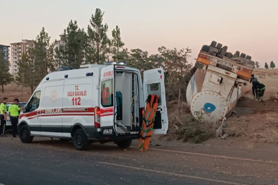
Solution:
{"label": "overturned tanker truck with white rounded tank and blue emblem", "polygon": [[187,86],[187,103],[200,121],[224,121],[235,108],[247,86],[255,62],[240,51],[227,52],[228,47],[211,42],[203,45],[195,64],[195,73]]}

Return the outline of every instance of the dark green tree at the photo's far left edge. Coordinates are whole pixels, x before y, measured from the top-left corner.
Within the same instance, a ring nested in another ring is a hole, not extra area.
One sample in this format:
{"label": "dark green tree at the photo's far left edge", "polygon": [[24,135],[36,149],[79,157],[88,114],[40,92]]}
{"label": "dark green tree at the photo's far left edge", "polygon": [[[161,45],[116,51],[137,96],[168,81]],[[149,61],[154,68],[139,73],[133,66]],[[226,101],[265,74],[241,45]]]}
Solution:
{"label": "dark green tree at the photo's far left edge", "polygon": [[0,50],[0,85],[2,87],[2,93],[4,93],[4,86],[12,82],[13,77],[9,73],[10,62],[4,59],[4,53]]}

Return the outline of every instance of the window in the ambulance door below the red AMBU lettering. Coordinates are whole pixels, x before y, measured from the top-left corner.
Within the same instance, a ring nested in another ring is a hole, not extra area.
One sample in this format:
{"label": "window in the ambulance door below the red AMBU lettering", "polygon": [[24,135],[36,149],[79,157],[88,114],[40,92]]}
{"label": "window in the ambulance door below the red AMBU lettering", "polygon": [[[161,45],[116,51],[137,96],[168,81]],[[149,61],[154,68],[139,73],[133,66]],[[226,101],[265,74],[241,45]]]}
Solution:
{"label": "window in the ambulance door below the red AMBU lettering", "polygon": [[102,106],[113,106],[113,79],[107,79],[102,82]]}

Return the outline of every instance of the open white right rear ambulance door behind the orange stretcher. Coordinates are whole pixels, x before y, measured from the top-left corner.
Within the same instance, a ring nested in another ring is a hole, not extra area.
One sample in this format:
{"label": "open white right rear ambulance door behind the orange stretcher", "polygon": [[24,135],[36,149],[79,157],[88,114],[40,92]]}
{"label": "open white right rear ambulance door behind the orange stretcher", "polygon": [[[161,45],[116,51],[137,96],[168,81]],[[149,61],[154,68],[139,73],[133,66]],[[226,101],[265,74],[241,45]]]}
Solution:
{"label": "open white right rear ambulance door behind the orange stretcher", "polygon": [[[165,96],[165,83],[163,68],[151,69],[143,73],[143,94],[144,99],[148,95],[159,96],[159,106],[154,119],[154,134],[167,134],[168,116]],[[145,104],[146,108],[146,104]]]}

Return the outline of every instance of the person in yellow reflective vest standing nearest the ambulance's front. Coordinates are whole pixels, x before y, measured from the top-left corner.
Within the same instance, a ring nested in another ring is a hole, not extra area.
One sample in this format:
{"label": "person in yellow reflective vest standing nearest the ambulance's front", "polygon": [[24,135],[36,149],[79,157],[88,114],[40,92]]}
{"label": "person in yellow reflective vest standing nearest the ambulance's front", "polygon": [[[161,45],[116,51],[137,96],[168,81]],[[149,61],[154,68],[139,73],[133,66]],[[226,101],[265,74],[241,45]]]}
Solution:
{"label": "person in yellow reflective vest standing nearest the ambulance's front", "polygon": [[9,106],[8,111],[10,121],[12,122],[12,136],[16,138],[17,123],[19,123],[19,112],[21,111],[21,108],[19,108],[19,99],[14,99],[14,103]]}

